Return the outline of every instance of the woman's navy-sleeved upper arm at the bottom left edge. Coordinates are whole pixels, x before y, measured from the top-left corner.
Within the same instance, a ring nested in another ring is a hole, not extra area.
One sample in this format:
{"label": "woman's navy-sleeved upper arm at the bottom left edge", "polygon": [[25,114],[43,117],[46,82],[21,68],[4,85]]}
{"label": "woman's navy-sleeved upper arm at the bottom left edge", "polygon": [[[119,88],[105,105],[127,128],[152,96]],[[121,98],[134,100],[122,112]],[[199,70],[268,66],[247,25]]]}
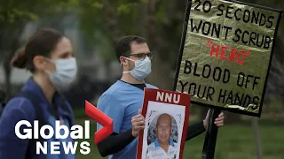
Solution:
{"label": "woman's navy-sleeved upper arm at the bottom left edge", "polygon": [[[24,159],[28,148],[28,139],[22,140],[15,133],[15,126],[20,120],[28,120],[33,126],[35,113],[31,103],[24,98],[14,98],[7,103],[0,117],[0,158]],[[20,126],[20,133],[27,126]]]}

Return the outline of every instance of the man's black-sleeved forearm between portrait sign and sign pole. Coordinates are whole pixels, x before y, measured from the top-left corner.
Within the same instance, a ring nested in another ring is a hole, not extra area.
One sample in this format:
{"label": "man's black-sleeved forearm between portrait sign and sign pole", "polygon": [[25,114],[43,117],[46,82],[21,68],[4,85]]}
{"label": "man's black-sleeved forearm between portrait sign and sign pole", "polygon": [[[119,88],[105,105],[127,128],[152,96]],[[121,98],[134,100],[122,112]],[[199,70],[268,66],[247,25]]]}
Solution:
{"label": "man's black-sleeved forearm between portrait sign and sign pole", "polygon": [[194,137],[200,135],[201,133],[204,133],[205,131],[206,129],[203,125],[203,121],[200,123],[189,125],[186,133],[186,141],[193,139]]}

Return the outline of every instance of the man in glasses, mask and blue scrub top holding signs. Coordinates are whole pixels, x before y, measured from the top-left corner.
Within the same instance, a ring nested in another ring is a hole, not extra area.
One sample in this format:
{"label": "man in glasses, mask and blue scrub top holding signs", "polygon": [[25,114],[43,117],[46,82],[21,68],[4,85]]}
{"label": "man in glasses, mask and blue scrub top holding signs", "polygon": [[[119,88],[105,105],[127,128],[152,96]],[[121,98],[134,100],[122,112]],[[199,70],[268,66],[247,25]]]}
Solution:
{"label": "man in glasses, mask and blue scrub top holding signs", "polygon": [[[157,88],[145,83],[151,72],[153,53],[146,40],[138,36],[127,36],[116,44],[116,57],[122,65],[122,79],[99,97],[98,108],[114,119],[114,133],[98,145],[99,154],[109,159],[135,159],[138,133],[144,129],[145,118],[141,115],[144,88]],[[208,113],[209,115],[209,113]],[[206,131],[207,116],[198,124],[188,127],[186,140]],[[224,114],[217,117],[215,124],[223,126]],[[97,131],[102,125],[97,125]]]}

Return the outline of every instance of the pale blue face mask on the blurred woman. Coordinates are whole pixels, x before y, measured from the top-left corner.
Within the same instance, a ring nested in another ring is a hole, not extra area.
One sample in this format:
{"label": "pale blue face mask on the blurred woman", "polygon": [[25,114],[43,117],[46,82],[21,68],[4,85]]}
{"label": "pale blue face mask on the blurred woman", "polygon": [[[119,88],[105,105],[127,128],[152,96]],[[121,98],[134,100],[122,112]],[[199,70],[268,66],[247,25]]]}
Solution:
{"label": "pale blue face mask on the blurred woman", "polygon": [[56,66],[56,72],[47,72],[51,82],[59,91],[66,90],[76,78],[77,64],[75,57],[49,61]]}

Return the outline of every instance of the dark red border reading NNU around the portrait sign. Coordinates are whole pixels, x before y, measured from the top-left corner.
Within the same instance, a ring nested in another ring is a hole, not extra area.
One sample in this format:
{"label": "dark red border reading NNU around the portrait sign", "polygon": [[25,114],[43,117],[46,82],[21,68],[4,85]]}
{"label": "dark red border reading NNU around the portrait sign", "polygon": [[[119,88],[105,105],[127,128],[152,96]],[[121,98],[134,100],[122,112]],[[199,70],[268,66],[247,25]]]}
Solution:
{"label": "dark red border reading NNU around the portrait sign", "polygon": [[[154,88],[145,88],[144,89],[144,101],[143,101],[143,107],[142,107],[142,115],[146,117],[146,112],[148,109],[148,102],[153,101],[153,102],[162,102],[162,101],[157,101],[156,96],[158,92],[163,92],[164,95],[166,94],[172,94],[172,95],[180,95],[180,100],[178,103],[175,103],[173,101],[171,102],[164,102],[164,103],[170,103],[170,104],[176,104],[181,107],[185,107],[185,122],[184,122],[184,127],[183,127],[183,134],[182,134],[182,139],[181,139],[181,144],[180,144],[180,150],[179,150],[179,159],[183,158],[183,152],[185,148],[185,139],[186,139],[186,132],[187,132],[187,127],[188,127],[188,120],[189,120],[189,108],[190,108],[190,95],[188,94],[182,94],[182,93],[177,93],[173,91],[168,91],[168,90],[161,90],[161,89],[154,89]],[[139,133],[138,137],[138,151],[137,151],[137,159],[142,159],[142,148],[143,148],[143,135],[144,135],[144,130]]]}

